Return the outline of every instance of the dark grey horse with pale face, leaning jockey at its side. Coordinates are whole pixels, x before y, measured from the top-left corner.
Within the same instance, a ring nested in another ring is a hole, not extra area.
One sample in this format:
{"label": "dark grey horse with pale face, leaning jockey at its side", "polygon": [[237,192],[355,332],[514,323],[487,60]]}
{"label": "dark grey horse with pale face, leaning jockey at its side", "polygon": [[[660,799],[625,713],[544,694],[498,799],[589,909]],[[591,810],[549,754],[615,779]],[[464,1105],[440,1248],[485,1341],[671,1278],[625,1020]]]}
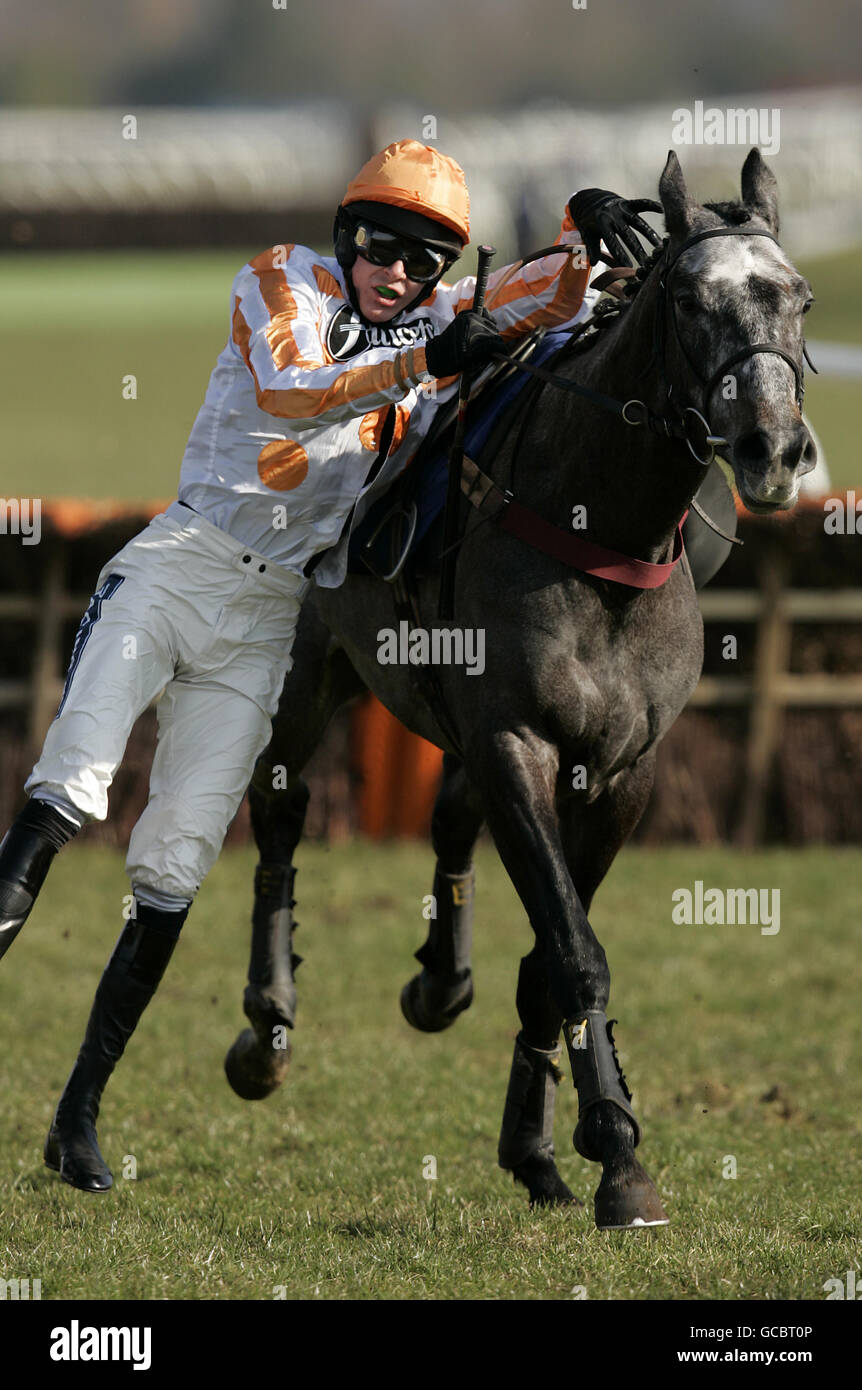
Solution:
{"label": "dark grey horse with pale face, leaning jockey at its side", "polygon": [[[555,382],[542,385],[520,428],[492,459],[482,456],[496,485],[489,496],[509,489],[558,535],[571,531],[573,507],[585,509],[585,539],[646,567],[678,552],[678,523],[712,455],[708,439],[720,441],[745,507],[794,506],[816,463],[801,413],[811,288],[777,243],[776,181],[758,150],[745,160],[741,192],[738,202],[695,203],[670,153],[659,182],[662,247],[589,345],[556,357]],[[503,505],[501,516],[507,512]],[[303,606],[293,670],[250,788],[260,849],[245,992],[252,1027],[225,1070],[246,1098],[268,1094],[285,1073],[289,1052],[273,1037],[286,1037],[295,1022],[302,770],[334,710],[371,689],[445,755],[432,817],[437,916],[417,952],[423,970],[402,995],[405,1016],[437,1031],[471,1001],[471,858],[487,823],[535,933],[520,966],[521,1027],[499,1163],[531,1204],[574,1201],[553,1156],[562,1031],[578,1091],[574,1147],[602,1165],[596,1225],[663,1225],[635,1156],[641,1129],[605,1013],[608,959],[588,913],[644,812],[658,745],[701,673],[695,589],[684,564],[644,588],[587,573],[488,523],[464,498],[460,534],[455,616],[459,628],[484,630],[485,670],[435,669],[446,719],[424,698],[414,667],[378,660],[378,634],[396,627],[391,585],[355,574],[338,589],[313,591]],[[427,627],[437,591],[427,566],[416,580]]]}

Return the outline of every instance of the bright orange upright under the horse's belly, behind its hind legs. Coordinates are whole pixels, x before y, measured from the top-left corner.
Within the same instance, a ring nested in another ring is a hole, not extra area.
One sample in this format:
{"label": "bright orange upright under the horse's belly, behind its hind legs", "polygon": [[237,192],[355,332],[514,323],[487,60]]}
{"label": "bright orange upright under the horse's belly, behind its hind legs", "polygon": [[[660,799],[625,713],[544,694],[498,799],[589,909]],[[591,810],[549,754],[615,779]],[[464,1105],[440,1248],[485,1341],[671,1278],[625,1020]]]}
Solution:
{"label": "bright orange upright under the horse's belly, behind its hind legs", "polygon": [[353,712],[359,791],[359,828],[373,840],[427,835],[444,755],[412,734],[374,696]]}

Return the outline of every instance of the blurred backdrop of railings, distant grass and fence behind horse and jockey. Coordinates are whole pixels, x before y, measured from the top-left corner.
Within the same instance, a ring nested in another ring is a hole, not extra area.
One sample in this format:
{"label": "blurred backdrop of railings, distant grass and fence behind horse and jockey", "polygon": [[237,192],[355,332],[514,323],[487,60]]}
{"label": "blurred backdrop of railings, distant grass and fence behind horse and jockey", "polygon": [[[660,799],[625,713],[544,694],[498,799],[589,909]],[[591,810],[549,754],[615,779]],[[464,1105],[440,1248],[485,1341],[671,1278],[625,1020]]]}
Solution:
{"label": "blurred backdrop of railings, distant grass and fence behind horse and jockey", "polygon": [[[756,111],[783,245],[818,299],[806,411],[830,493],[862,502],[861,26],[849,0],[1,0],[0,493],[40,500],[42,539],[0,510],[0,823],[100,566],[175,496],[234,274],[275,242],[330,253],[348,179],[391,139],[463,164],[474,245],[502,264],[555,238],[577,188],[655,196],[670,147],[697,196],[734,196],[748,142],[676,143],[678,111]],[[742,521],[641,838],[858,841],[862,538],[823,520],[809,499]],[[153,727],[89,834],[124,842]],[[421,834],[438,771],[366,701],[310,770],[310,830]]]}

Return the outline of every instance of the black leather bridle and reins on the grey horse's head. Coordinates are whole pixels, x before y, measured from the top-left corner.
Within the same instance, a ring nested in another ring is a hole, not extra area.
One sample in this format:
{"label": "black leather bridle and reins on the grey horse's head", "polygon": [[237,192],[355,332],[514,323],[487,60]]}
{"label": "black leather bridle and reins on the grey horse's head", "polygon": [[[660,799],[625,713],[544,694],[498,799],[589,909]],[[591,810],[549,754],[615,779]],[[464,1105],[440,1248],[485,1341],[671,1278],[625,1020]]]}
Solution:
{"label": "black leather bridle and reins on the grey horse's head", "polygon": [[[519,361],[517,370],[527,371],[532,377],[538,377],[539,381],[545,381],[553,386],[558,386],[560,391],[569,391],[573,395],[583,396],[587,400],[592,400],[594,404],[601,406],[603,410],[609,410],[613,414],[620,416],[627,425],[642,425],[652,434],[665,435],[669,439],[683,441],[688,446],[692,459],[697,463],[699,463],[702,468],[709,467],[709,464],[715,457],[716,448],[727,445],[727,439],[722,438],[722,435],[716,435],[712,432],[709,423],[706,420],[706,413],[709,410],[709,402],[712,399],[713,391],[716,389],[722,378],[727,374],[730,367],[737,366],[740,361],[745,361],[748,357],[754,357],[756,353],[767,352],[767,353],[774,353],[777,357],[781,357],[792,370],[795,381],[797,404],[801,410],[802,399],[805,395],[804,367],[802,363],[791,357],[790,353],[787,353],[784,348],[781,348],[779,343],[770,343],[770,342],[751,343],[747,348],[741,348],[738,352],[731,353],[730,357],[727,357],[720,367],[716,367],[716,370],[712,373],[709,378],[705,378],[698,371],[691,357],[688,356],[677,324],[676,309],[673,300],[669,296],[669,285],[672,274],[676,270],[680,257],[684,256],[685,252],[690,250],[692,246],[697,246],[698,242],[706,240],[706,238],[710,236],[766,236],[769,238],[770,242],[774,242],[776,246],[779,245],[777,236],[773,236],[772,232],[759,231],[755,227],[713,227],[709,228],[708,231],[692,232],[691,236],[687,236],[685,240],[680,246],[677,246],[672,259],[665,264],[659,278],[659,296],[658,296],[658,306],[655,316],[653,352],[652,357],[646,363],[646,367],[644,368],[644,373],[646,373],[653,364],[658,364],[660,395],[666,402],[665,414],[656,414],[653,410],[649,409],[649,406],[646,406],[644,400],[638,400],[637,398],[624,402],[617,400],[615,396],[608,396],[602,391],[594,391],[592,386],[583,386],[577,381],[570,381],[567,377],[560,377],[558,373],[546,371],[542,367],[531,367],[530,363],[527,361]],[[531,260],[538,260],[539,257],[548,256],[553,252],[571,254],[576,250],[580,250],[580,247],[559,246],[559,245],[546,246],[541,252],[535,252],[532,256],[526,257],[526,260],[521,264],[527,264],[527,261]],[[628,274],[631,274],[631,271]],[[688,368],[694,374],[695,379],[699,381],[704,388],[704,398],[701,400],[702,410],[697,410],[694,406],[680,407],[673,400],[673,384],[667,381],[667,361],[666,361],[666,354],[667,354],[666,325],[669,318],[673,325],[673,332],[677,341],[677,346],[680,348],[684,360],[688,364]],[[563,348],[563,352],[564,350],[566,349]],[[805,348],[805,343],[802,343],[802,353],[805,361],[808,361],[812,371],[816,371],[815,364],[808,356],[808,349]],[[509,353],[496,353],[495,356],[498,356],[501,360],[509,359]]]}

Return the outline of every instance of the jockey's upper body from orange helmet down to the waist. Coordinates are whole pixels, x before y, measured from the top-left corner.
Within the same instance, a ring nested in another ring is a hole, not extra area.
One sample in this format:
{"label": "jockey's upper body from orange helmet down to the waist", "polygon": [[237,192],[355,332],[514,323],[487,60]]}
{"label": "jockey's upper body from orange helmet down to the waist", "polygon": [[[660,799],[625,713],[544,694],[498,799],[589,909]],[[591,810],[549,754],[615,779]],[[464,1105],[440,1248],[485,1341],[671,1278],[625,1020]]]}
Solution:
{"label": "jockey's upper body from orange helmet down to the waist", "polygon": [[[179,486],[209,520],[327,588],[346,574],[349,531],[407,466],[455,377],[484,366],[501,338],[574,324],[594,297],[585,257],[558,254],[495,271],[474,314],[474,277],[442,278],[470,240],[464,174],[417,140],[363,165],[334,236],[334,259],[275,246],[236,277],[231,341]],[[559,240],[581,245],[569,210]]]}

